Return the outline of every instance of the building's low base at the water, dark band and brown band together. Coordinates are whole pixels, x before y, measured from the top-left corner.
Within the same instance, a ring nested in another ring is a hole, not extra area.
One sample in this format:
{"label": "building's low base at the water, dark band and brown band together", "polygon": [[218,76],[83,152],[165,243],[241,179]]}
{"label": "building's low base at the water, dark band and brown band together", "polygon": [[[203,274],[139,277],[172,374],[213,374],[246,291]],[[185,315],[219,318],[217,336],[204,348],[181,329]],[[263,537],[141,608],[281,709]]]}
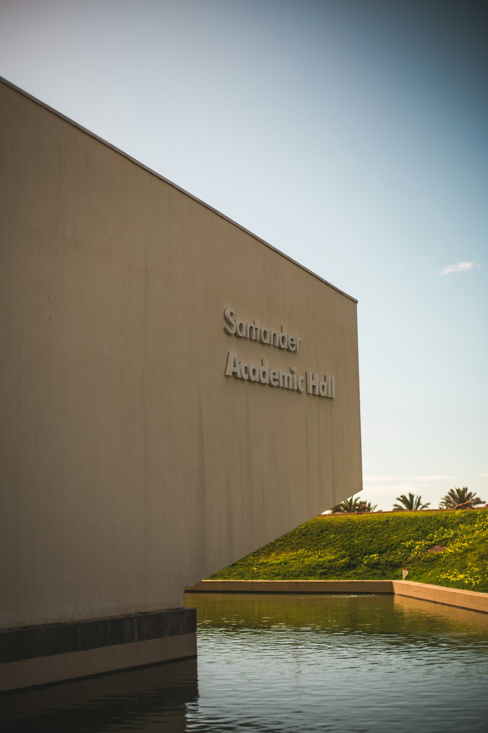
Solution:
{"label": "building's low base at the water, dark band and brown band together", "polygon": [[0,631],[0,691],[194,657],[196,609]]}

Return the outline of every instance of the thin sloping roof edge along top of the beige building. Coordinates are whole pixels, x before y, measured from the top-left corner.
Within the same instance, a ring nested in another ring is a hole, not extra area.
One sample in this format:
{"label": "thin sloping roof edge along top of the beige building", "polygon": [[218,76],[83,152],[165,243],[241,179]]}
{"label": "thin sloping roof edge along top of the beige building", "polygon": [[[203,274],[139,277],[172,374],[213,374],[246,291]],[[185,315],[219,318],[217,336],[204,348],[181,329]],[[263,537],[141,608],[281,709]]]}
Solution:
{"label": "thin sloping roof edge along top of the beige building", "polygon": [[23,97],[27,97],[27,99],[30,99],[31,102],[34,102],[35,104],[38,104],[40,107],[47,109],[49,112],[56,114],[56,117],[61,117],[61,119],[64,119],[64,122],[68,122],[73,127],[78,128],[78,130],[81,130],[83,133],[86,133],[86,135],[89,135],[91,138],[94,138],[95,140],[101,142],[103,145],[106,145],[106,147],[110,147],[111,150],[114,150],[119,155],[122,155],[124,158],[127,158],[127,160],[131,161],[131,163],[135,163],[136,166],[143,168],[148,173],[151,173],[153,176],[156,176],[157,178],[159,178],[159,180],[162,180],[165,183],[168,183],[168,185],[170,185],[172,188],[176,188],[176,191],[180,191],[181,194],[188,196],[189,199],[193,199],[193,201],[196,201],[198,204],[206,207],[206,209],[209,209],[214,214],[217,214],[217,216],[220,216],[222,219],[225,219],[225,221],[228,221],[230,224],[233,224],[233,226],[237,226],[243,232],[246,232],[246,234],[250,235],[255,240],[258,240],[258,242],[260,242],[261,244],[265,245],[266,247],[269,247],[269,249],[272,249],[274,252],[281,255],[281,257],[285,257],[285,259],[288,259],[289,262],[293,262],[293,265],[296,265],[301,270],[305,270],[305,272],[309,273],[309,275],[312,275],[313,277],[320,280],[320,282],[323,282],[326,285],[329,285],[329,287],[331,287],[333,290],[337,290],[337,292],[340,292],[341,295],[345,295],[346,298],[349,298],[354,303],[358,302],[356,298],[353,298],[352,295],[348,295],[348,293],[344,292],[344,290],[340,290],[339,287],[336,287],[331,282],[324,280],[323,277],[320,277],[320,275],[318,275],[317,273],[313,272],[312,270],[309,270],[309,268],[306,268],[304,265],[301,265],[300,262],[297,262],[296,259],[293,259],[293,257],[289,257],[288,254],[285,254],[285,252],[282,252],[281,250],[274,247],[272,244],[269,244],[269,242],[266,242],[265,240],[261,239],[261,237],[258,237],[258,235],[255,235],[253,232],[249,232],[249,229],[246,229],[245,226],[242,226],[241,224],[238,224],[236,221],[233,221],[233,219],[229,218],[228,216],[225,216],[225,214],[222,214],[221,211],[214,209],[213,206],[210,206],[209,204],[206,204],[206,202],[202,201],[201,199],[198,199],[197,196],[193,196],[193,194],[189,194],[189,192],[185,191],[184,188],[181,188],[181,186],[176,185],[176,183],[173,183],[173,181],[168,180],[168,178],[165,178],[161,174],[149,168],[149,166],[145,166],[144,163],[141,163],[140,161],[137,161],[135,158],[132,158],[132,156],[128,155],[127,152],[120,150],[120,148],[116,147],[115,145],[112,145],[110,142],[104,140],[103,138],[99,137],[95,133],[92,133],[91,130],[87,130],[87,128],[84,128],[83,125],[79,125],[78,122],[75,122],[73,119],[70,119],[70,117],[66,117],[65,114],[62,114],[57,109],[50,107],[48,104],[45,104],[41,100],[37,99],[37,97],[33,97],[32,95],[29,94],[29,92],[25,92],[24,89],[20,89],[20,86],[16,86],[15,84],[12,84],[11,81],[8,81],[3,76],[0,76],[0,82],[2,84],[5,84],[6,86],[10,86],[11,89],[15,89],[15,92],[19,92],[19,94],[23,95]]}

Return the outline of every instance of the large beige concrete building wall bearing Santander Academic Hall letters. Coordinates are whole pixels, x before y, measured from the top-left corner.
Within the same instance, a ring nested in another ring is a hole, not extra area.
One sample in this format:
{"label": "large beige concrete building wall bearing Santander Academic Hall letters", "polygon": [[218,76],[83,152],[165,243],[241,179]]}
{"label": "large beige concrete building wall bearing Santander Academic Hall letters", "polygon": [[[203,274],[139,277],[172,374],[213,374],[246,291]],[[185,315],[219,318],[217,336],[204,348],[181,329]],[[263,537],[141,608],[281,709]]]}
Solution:
{"label": "large beige concrete building wall bearing Santander Academic Hall letters", "polygon": [[360,489],[356,303],[6,84],[0,116],[0,627],[182,605]]}

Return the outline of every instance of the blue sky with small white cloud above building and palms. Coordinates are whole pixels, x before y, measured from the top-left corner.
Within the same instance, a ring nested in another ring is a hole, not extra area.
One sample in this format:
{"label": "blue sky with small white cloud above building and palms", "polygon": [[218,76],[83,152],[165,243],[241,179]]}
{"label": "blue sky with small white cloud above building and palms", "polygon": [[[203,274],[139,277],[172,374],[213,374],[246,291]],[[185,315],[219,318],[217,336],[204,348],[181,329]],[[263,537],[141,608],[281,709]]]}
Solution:
{"label": "blue sky with small white cloud above building and palms", "polygon": [[363,496],[383,509],[488,500],[485,15],[0,0],[4,78],[358,298]]}

